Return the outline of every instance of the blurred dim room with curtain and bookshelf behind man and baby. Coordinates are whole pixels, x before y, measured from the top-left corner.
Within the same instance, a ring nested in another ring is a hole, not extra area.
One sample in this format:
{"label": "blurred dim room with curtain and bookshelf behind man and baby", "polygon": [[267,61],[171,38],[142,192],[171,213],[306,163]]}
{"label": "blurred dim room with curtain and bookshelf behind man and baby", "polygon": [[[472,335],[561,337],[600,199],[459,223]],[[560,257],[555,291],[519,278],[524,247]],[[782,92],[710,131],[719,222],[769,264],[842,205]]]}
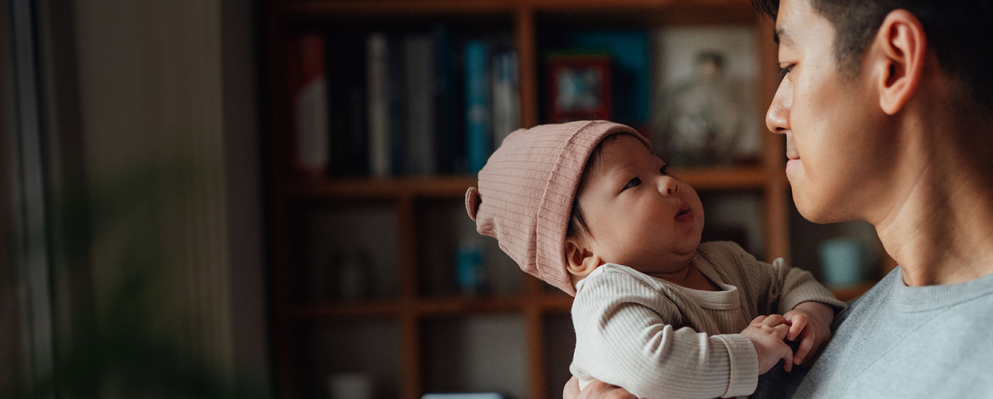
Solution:
{"label": "blurred dim room with curtain and bookshelf behind man and baby", "polygon": [[560,397],[571,298],[464,205],[540,123],[636,127],[843,300],[894,267],[792,206],[748,0],[0,4],[0,397]]}

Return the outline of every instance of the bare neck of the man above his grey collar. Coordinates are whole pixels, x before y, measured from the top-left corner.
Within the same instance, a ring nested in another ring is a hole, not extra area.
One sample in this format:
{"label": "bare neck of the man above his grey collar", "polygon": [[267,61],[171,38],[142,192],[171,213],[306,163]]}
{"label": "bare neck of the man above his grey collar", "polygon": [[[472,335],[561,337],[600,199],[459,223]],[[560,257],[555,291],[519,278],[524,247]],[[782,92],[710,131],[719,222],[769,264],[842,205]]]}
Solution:
{"label": "bare neck of the man above his grey collar", "polygon": [[909,286],[959,284],[993,274],[988,165],[971,162],[978,159],[975,154],[947,136],[917,137],[924,139],[906,146],[895,191],[882,202],[889,208],[870,219],[883,246],[901,265]]}

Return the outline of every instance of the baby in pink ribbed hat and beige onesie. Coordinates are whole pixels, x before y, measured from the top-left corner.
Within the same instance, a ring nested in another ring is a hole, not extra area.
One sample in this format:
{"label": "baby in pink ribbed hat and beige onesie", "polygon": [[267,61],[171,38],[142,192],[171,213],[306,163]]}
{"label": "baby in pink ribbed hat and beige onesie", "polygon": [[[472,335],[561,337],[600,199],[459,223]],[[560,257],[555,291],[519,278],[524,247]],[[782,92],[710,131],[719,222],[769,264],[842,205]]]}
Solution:
{"label": "baby in pink ribbed hat and beige onesie", "polygon": [[[753,393],[780,359],[807,364],[844,307],[808,272],[700,243],[703,206],[634,129],[520,129],[466,193],[477,230],[574,295],[570,367],[639,398]],[[763,316],[770,315],[770,316]],[[800,342],[795,353],[785,340]]]}

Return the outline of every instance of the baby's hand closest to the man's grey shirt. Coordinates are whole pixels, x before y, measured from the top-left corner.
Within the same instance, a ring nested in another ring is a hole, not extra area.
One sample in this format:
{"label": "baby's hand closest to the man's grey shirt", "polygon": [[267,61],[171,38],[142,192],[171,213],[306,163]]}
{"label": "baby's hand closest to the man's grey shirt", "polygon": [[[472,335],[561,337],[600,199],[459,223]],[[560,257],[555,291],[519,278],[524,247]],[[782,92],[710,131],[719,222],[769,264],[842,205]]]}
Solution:
{"label": "baby's hand closest to the man's grey shirt", "polygon": [[796,340],[797,336],[800,337],[800,345],[793,354],[793,363],[809,366],[820,356],[821,350],[831,339],[834,308],[819,302],[804,302],[782,316],[790,325],[786,338]]}

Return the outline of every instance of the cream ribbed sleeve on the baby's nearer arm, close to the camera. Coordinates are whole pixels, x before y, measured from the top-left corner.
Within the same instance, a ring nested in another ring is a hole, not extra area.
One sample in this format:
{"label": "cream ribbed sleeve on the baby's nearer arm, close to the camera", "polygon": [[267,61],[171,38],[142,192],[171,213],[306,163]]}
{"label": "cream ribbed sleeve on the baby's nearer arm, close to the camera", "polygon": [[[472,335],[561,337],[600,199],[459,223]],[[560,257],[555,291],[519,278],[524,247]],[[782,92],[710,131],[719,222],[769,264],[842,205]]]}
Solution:
{"label": "cream ribbed sleeve on the baby's nearer arm, close to the camera", "polygon": [[572,308],[573,374],[644,399],[753,393],[759,360],[752,341],[680,327],[676,305],[660,288],[646,276],[616,270],[584,280]]}

